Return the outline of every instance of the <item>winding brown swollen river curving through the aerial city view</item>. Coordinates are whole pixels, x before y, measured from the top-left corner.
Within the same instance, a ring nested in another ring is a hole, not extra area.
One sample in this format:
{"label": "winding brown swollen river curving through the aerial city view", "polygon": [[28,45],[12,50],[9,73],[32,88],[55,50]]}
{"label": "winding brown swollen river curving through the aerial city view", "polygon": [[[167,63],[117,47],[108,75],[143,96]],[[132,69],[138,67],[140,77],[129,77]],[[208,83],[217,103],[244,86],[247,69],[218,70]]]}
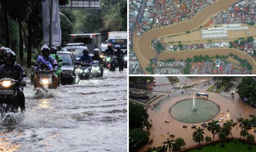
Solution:
{"label": "winding brown swollen river curving through the aerial city view", "polygon": [[[171,36],[176,33],[182,33],[186,31],[191,31],[197,27],[199,27],[209,16],[214,15],[217,12],[220,12],[228,7],[230,7],[233,3],[238,2],[239,0],[218,0],[206,7],[202,11],[200,11],[193,19],[177,23],[175,25],[164,27],[164,28],[156,28],[144,33],[141,37],[137,37],[137,31],[134,31],[132,42],[133,49],[136,53],[139,63],[145,69],[148,66],[149,59],[154,58],[156,52],[151,50],[150,44],[151,41],[157,37],[162,36]],[[229,55],[229,53],[237,54],[242,59],[247,59],[250,64],[253,65],[253,73],[256,73],[256,63],[252,57],[247,55],[245,52],[237,51],[234,49],[209,49],[203,51],[176,51],[176,52],[162,52],[159,55],[158,59],[167,59],[167,58],[175,58],[176,60],[186,59],[188,57],[193,57],[194,55]],[[145,71],[145,70],[144,70]]]}

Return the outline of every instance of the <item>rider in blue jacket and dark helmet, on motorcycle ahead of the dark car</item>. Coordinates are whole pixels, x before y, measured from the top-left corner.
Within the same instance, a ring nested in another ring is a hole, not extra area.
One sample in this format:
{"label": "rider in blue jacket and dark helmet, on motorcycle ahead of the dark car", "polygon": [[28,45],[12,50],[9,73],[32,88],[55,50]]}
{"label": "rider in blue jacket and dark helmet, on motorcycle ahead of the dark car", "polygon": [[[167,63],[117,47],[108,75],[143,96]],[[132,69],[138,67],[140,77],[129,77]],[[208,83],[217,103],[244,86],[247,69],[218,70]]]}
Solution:
{"label": "rider in blue jacket and dark helmet, on motorcycle ahead of the dark car", "polygon": [[[58,69],[58,64],[56,60],[50,55],[50,48],[43,47],[41,49],[41,55],[37,57],[36,63],[40,66],[40,64],[45,64],[47,65],[48,70],[55,70],[57,71]],[[38,68],[37,68],[38,69]],[[38,88],[40,83],[40,76],[36,75],[34,78],[34,88]],[[53,73],[52,74],[52,81],[53,81],[53,89],[56,89],[58,87],[58,77]]]}

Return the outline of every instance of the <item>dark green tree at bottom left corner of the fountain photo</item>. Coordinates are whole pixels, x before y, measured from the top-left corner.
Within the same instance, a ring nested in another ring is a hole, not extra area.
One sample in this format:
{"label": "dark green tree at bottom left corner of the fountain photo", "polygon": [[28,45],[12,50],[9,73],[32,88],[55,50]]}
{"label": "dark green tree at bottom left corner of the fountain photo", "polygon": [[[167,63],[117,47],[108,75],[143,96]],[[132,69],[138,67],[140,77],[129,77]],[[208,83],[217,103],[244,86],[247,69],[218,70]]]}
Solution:
{"label": "dark green tree at bottom left corner of the fountain photo", "polygon": [[149,131],[143,131],[141,128],[129,131],[129,150],[135,152],[143,147],[149,141]]}

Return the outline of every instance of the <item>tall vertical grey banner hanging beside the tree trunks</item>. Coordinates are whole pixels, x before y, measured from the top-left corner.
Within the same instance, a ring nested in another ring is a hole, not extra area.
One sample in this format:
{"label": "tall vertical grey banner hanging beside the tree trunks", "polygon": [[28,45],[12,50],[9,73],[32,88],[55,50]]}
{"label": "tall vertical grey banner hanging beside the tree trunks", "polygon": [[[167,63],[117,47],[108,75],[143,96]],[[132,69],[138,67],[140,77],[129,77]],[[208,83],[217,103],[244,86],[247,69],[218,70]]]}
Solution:
{"label": "tall vertical grey banner hanging beside the tree trunks", "polygon": [[[44,44],[50,44],[50,0],[42,2],[43,7],[43,29],[44,29]],[[59,0],[53,0],[52,13],[52,45],[60,46],[62,42],[62,31],[60,24]]]}

